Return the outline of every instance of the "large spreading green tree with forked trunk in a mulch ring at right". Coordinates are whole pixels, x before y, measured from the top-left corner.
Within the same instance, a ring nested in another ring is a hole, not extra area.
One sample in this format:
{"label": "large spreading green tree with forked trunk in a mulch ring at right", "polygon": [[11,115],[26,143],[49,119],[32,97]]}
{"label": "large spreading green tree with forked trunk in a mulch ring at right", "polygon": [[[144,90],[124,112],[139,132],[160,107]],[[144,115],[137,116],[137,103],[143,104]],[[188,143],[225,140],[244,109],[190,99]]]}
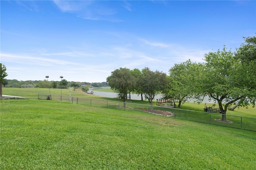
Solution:
{"label": "large spreading green tree with forked trunk in a mulch ring at right", "polygon": [[234,103],[255,105],[256,92],[252,83],[255,72],[253,75],[252,70],[246,71],[246,65],[234,57],[232,51],[227,51],[225,46],[222,51],[210,52],[204,57],[204,67],[197,71],[195,90],[197,94],[208,95],[216,101],[222,113],[222,121],[226,121],[226,111]]}

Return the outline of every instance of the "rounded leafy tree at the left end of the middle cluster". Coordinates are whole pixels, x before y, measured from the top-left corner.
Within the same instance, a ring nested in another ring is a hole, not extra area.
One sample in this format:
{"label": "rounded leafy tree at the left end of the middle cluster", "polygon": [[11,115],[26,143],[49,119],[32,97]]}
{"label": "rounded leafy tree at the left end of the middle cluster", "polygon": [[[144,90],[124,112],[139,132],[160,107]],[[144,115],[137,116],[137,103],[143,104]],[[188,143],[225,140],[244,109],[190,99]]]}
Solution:
{"label": "rounded leafy tree at the left end of the middle cluster", "polygon": [[111,72],[111,75],[107,77],[107,83],[125,102],[128,92],[132,91],[134,88],[135,79],[130,69],[119,68]]}

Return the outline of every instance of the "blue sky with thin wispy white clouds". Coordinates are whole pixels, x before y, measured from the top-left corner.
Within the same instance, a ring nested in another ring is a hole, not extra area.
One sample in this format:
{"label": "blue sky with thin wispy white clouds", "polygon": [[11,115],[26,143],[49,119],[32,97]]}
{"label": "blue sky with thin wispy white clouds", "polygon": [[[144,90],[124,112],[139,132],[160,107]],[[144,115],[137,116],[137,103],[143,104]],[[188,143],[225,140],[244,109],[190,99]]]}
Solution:
{"label": "blue sky with thin wispy white clouds", "polygon": [[235,51],[255,36],[256,1],[1,1],[7,79],[103,82],[120,67],[159,70]]}

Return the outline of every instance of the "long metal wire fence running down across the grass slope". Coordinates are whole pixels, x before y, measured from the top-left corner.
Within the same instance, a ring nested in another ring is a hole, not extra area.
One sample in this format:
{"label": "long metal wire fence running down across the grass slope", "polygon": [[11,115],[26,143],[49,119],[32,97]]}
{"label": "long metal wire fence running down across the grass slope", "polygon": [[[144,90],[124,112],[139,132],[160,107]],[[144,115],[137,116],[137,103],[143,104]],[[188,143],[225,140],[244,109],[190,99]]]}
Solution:
{"label": "long metal wire fence running down across the grass slope", "polygon": [[[142,105],[129,102],[117,102],[117,101],[107,101],[98,99],[86,99],[70,96],[56,96],[51,95],[52,100],[65,101],[70,103],[83,104],[87,106],[103,107],[109,109],[119,109],[123,111],[130,111],[131,109],[137,109],[140,111],[146,111],[150,113],[150,105]],[[174,119],[182,119],[187,121],[194,121],[199,123],[207,123],[210,125],[218,125],[232,128],[239,128],[245,130],[256,131],[256,119],[248,117],[239,117],[226,115],[225,122],[221,121],[222,114],[220,113],[206,113],[200,111],[190,111],[184,109],[169,108],[163,106],[152,106],[154,111],[166,111],[171,114],[168,116]]]}

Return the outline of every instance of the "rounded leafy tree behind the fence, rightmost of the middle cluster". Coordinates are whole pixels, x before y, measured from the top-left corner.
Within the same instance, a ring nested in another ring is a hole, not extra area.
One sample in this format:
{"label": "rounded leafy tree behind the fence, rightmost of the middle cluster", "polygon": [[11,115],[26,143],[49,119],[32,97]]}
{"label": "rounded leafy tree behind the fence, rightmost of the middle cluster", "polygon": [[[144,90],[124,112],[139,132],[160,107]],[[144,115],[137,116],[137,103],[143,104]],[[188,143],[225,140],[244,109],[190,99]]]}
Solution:
{"label": "rounded leafy tree behind the fence, rightmost of the middle cluster", "polygon": [[138,85],[146,99],[148,99],[151,111],[153,110],[152,101],[155,95],[167,89],[168,80],[166,73],[163,73],[162,71],[151,71],[148,67],[142,69],[142,75]]}

